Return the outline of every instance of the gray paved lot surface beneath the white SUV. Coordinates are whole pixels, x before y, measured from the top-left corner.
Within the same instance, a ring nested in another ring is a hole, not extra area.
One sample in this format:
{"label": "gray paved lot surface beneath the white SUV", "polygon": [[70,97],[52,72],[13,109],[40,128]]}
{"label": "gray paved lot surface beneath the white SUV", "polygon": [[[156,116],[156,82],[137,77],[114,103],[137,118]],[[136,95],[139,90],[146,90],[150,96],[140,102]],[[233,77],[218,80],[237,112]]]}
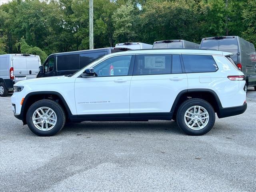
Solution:
{"label": "gray paved lot surface beneath the white SUV", "polygon": [[0,191],[256,191],[256,92],[204,136],[173,121],[67,124],[38,137],[0,98]]}

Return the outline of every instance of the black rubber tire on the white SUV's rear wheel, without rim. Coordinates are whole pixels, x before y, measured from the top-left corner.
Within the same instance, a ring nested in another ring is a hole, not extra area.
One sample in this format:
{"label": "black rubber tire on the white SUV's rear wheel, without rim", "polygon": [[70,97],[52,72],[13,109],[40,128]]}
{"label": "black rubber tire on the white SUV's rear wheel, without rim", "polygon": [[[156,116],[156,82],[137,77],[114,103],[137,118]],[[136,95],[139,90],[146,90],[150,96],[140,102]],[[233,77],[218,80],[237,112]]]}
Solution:
{"label": "black rubber tire on the white SUV's rear wheel, without rim", "polygon": [[[185,120],[184,120],[185,113],[192,106],[201,106],[201,107],[205,108],[209,114],[208,124],[200,130],[193,130],[193,129],[189,128],[185,123]],[[196,98],[189,99],[189,100],[184,101],[178,109],[177,124],[180,127],[180,129],[183,130],[188,135],[198,136],[198,135],[206,134],[207,132],[209,132],[212,129],[212,127],[214,126],[214,123],[215,123],[214,109],[205,100],[196,99]]]}

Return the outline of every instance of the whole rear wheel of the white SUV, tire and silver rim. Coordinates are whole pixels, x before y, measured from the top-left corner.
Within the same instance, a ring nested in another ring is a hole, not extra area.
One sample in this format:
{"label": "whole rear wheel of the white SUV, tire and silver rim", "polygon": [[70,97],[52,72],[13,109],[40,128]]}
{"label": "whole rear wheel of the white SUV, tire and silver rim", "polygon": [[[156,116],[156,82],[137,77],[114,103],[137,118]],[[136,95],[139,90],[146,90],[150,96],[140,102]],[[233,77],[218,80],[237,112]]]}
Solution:
{"label": "whole rear wheel of the white SUV, tire and silver rim", "polygon": [[202,99],[184,101],[177,113],[177,123],[188,135],[203,135],[214,126],[215,112],[212,106]]}

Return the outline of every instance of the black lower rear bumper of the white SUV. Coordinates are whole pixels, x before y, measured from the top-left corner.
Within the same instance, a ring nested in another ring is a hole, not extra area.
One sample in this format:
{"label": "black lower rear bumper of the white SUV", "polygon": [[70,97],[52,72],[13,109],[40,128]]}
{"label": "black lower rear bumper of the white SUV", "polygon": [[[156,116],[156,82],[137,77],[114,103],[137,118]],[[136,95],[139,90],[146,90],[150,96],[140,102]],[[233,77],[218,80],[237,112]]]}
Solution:
{"label": "black lower rear bumper of the white SUV", "polygon": [[244,113],[246,109],[247,109],[247,103],[244,103],[242,106],[237,106],[237,107],[220,108],[218,118],[240,115]]}

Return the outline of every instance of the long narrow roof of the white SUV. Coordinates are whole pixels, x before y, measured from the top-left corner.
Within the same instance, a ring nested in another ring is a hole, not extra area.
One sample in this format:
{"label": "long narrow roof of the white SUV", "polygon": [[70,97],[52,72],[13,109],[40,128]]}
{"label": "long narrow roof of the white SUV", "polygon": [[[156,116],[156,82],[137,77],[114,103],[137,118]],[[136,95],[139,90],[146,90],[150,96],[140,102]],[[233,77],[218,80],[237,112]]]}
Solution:
{"label": "long narrow roof of the white SUV", "polygon": [[[142,50],[129,50],[126,52],[113,53],[115,55],[124,54],[209,54],[209,55],[232,55],[230,52],[223,52],[217,50],[204,50],[204,49],[142,49]],[[111,54],[111,55],[113,55]]]}

